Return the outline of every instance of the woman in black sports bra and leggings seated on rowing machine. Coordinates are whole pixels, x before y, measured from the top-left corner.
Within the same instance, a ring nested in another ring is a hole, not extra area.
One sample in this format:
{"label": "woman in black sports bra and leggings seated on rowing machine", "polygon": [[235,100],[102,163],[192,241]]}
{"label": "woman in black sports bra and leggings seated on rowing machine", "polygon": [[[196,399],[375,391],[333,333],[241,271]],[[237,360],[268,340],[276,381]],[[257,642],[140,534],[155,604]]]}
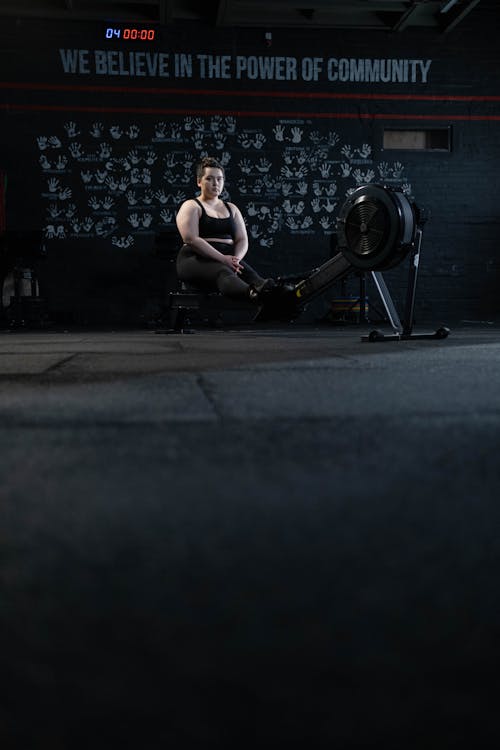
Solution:
{"label": "woman in black sports bra and leggings seated on rowing machine", "polygon": [[221,199],[224,168],[205,157],[196,170],[198,198],[190,198],[177,214],[177,229],[184,242],[177,256],[177,275],[202,288],[218,289],[228,297],[260,302],[272,279],[263,279],[243,262],[248,235],[240,210]]}

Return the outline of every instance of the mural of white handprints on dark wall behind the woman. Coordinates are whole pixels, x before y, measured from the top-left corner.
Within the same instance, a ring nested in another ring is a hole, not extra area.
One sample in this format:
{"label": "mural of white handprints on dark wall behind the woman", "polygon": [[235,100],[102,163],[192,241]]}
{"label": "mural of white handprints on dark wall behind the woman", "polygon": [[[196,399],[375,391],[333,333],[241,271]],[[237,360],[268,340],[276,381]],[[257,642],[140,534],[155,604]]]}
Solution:
{"label": "mural of white handprints on dark wall behind the woman", "polygon": [[175,231],[178,205],[196,192],[195,162],[206,155],[229,168],[223,197],[241,207],[262,248],[332,234],[340,199],[358,185],[392,182],[411,192],[404,165],[377,163],[366,133],[347,140],[310,120],[71,120],[36,145],[50,240],[95,236],[128,248],[140,235]]}

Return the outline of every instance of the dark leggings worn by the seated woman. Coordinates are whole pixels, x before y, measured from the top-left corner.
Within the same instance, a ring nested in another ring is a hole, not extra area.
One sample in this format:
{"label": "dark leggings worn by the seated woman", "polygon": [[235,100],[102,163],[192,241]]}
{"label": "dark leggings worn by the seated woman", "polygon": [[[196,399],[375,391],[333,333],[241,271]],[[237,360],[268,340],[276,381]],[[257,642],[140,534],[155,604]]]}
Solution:
{"label": "dark leggings worn by the seated woman", "polygon": [[[232,255],[233,246],[223,242],[211,242],[212,247],[224,255]],[[177,256],[177,276],[201,289],[218,289],[228,297],[247,297],[250,284],[259,289],[265,279],[252,266],[240,261],[241,273],[218,260],[196,253],[190,245],[183,245]]]}

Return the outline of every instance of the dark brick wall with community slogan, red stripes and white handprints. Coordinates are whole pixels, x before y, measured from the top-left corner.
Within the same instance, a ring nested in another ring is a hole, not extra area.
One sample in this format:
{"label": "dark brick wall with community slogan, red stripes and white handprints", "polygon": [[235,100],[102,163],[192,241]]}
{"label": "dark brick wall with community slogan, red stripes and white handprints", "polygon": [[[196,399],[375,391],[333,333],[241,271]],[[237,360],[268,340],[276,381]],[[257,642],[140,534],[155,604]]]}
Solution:
{"label": "dark brick wall with community slogan, red stripes and white handprints", "polygon": [[[271,42],[193,24],[127,42],[98,23],[4,22],[7,225],[43,230],[53,314],[154,312],[172,283],[176,207],[210,154],[263,273],[324,261],[347,192],[384,183],[432,214],[417,319],[498,316],[499,14],[479,8],[448,35],[283,29]],[[384,128],[442,127],[450,151],[383,149]],[[397,298],[405,278],[389,273]]]}

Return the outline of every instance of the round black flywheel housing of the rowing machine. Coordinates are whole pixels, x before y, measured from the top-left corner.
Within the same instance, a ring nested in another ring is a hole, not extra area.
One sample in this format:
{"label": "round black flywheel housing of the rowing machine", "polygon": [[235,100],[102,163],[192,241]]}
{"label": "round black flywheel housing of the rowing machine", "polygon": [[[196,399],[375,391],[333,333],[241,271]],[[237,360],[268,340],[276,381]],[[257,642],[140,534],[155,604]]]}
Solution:
{"label": "round black flywheel housing of the rowing machine", "polygon": [[392,268],[414,247],[418,217],[418,208],[400,189],[362,185],[339,213],[338,249],[362,271]]}

